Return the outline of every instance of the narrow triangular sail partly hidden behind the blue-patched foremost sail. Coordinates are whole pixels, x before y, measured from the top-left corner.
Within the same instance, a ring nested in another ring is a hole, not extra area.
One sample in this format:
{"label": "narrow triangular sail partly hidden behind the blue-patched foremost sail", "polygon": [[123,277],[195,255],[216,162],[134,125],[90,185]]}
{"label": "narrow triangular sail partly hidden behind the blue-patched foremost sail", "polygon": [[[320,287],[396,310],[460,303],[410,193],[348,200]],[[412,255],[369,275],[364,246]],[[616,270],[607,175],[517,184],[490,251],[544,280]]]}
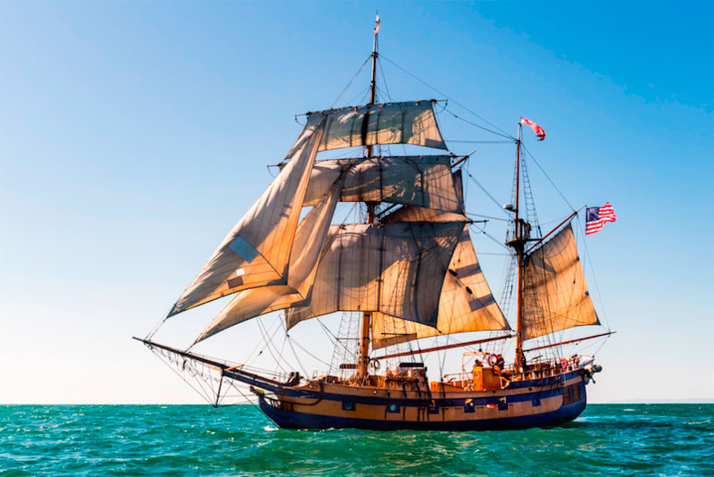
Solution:
{"label": "narrow triangular sail partly hidden behind the blue-patched foremost sail", "polygon": [[337,199],[344,183],[343,179],[344,176],[336,178],[328,193],[297,226],[290,253],[287,284],[239,291],[195,340],[196,343],[239,322],[281,310],[308,296],[317,271],[318,259],[328,236],[330,220],[335,213]]}

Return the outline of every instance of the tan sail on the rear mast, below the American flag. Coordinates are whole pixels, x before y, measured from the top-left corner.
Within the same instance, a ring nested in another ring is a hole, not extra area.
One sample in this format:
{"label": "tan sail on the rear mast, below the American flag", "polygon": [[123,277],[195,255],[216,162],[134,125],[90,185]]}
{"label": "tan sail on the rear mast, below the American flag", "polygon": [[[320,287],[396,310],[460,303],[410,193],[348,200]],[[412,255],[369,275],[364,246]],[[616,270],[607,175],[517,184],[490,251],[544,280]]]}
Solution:
{"label": "tan sail on the rear mast, below the American flag", "polygon": [[523,339],[600,324],[570,224],[527,255],[524,281]]}

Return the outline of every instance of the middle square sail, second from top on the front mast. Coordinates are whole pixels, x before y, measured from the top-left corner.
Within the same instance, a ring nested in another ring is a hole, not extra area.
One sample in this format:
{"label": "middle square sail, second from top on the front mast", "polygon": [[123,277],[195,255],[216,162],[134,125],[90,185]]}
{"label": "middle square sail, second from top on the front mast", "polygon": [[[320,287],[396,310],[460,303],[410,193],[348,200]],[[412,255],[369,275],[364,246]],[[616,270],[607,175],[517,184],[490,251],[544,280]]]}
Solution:
{"label": "middle square sail, second from top on the front mast", "polygon": [[389,202],[462,213],[450,155],[331,159],[312,168],[303,205],[314,205],[346,172],[343,202]]}

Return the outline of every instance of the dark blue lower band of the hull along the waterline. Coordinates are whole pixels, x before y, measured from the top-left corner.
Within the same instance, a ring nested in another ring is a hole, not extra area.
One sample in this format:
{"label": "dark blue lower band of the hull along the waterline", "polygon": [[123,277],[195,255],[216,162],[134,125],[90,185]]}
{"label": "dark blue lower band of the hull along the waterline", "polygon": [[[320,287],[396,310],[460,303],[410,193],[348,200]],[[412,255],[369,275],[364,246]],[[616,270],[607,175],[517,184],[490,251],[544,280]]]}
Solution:
{"label": "dark blue lower band of the hull along the waterline", "polygon": [[561,406],[557,411],[530,414],[518,417],[480,419],[472,421],[388,421],[378,419],[356,419],[330,415],[303,414],[270,406],[265,397],[259,395],[262,411],[278,426],[285,429],[330,429],[353,428],[373,431],[397,431],[411,429],[419,431],[487,431],[524,429],[537,426],[554,426],[568,423],[585,409],[585,399]]}

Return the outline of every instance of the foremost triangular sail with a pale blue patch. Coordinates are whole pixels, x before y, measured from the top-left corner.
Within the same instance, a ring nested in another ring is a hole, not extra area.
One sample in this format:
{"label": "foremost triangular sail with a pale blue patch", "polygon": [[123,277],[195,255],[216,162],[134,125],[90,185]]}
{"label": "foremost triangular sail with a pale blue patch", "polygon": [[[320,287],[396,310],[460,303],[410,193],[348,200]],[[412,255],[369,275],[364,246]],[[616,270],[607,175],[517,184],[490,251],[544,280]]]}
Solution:
{"label": "foremost triangular sail with a pale blue patch", "polygon": [[303,130],[290,161],[223,239],[169,316],[241,289],[285,284],[286,266],[324,122]]}

